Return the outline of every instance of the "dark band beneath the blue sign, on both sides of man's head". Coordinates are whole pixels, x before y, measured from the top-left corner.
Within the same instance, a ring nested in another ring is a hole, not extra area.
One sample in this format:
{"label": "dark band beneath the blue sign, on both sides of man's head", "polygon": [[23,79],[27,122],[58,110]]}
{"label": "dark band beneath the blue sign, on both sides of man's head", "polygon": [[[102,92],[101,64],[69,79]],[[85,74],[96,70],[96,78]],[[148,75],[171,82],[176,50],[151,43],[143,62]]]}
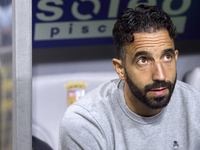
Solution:
{"label": "dark band beneath the blue sign, on both sides of man's head", "polygon": [[[176,40],[175,48],[179,55],[200,54],[200,40]],[[114,45],[33,49],[33,65],[112,59],[116,57],[114,50]]]}

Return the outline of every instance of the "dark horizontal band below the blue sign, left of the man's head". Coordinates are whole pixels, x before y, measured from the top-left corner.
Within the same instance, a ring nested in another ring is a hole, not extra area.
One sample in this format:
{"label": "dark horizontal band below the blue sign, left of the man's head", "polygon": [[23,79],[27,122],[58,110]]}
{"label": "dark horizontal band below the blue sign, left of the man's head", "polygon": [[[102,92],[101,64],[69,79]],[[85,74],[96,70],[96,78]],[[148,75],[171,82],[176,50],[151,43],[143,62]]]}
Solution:
{"label": "dark horizontal band below the blue sign, left of the man's head", "polygon": [[88,60],[105,60],[115,57],[113,45],[33,49],[33,65]]}

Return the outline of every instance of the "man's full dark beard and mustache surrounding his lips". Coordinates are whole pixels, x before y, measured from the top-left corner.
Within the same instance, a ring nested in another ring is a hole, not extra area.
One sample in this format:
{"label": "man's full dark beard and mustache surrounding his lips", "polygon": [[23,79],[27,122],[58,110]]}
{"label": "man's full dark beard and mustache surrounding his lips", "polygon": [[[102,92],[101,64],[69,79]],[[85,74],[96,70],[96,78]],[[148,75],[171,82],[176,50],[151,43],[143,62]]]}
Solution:
{"label": "man's full dark beard and mustache surrounding his lips", "polygon": [[[174,87],[176,84],[176,79],[177,79],[177,74],[175,77],[175,80],[173,83],[171,82],[166,82],[166,81],[155,81],[153,84],[148,84],[144,87],[144,90],[141,90],[140,88],[138,88],[133,81],[130,79],[130,77],[126,72],[126,78],[127,78],[127,83],[128,86],[132,92],[132,94],[138,99],[140,100],[142,103],[146,104],[148,107],[152,108],[152,109],[159,109],[159,108],[163,108],[165,106],[167,106],[167,104],[170,101],[170,98],[172,96],[172,93],[174,91]],[[160,88],[160,87],[166,87],[169,90],[169,93],[165,96],[156,96],[156,97],[147,97],[147,92],[151,89],[155,89],[155,88]]]}

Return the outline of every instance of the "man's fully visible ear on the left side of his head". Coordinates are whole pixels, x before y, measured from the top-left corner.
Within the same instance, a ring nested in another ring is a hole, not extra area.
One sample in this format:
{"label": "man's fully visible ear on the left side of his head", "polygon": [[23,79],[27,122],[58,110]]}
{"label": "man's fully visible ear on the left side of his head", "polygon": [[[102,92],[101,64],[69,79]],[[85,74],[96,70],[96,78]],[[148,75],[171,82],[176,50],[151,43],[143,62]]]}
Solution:
{"label": "man's fully visible ear on the left side of his head", "polygon": [[115,68],[115,71],[117,72],[119,78],[121,80],[125,80],[125,70],[124,70],[124,66],[121,60],[113,58],[112,60],[113,66]]}

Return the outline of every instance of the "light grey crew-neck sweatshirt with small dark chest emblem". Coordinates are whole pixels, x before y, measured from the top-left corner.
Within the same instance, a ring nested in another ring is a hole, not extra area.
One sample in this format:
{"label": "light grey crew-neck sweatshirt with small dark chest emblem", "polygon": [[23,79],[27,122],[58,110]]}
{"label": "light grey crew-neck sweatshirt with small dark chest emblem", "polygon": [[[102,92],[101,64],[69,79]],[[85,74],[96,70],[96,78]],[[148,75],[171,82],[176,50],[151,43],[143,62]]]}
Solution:
{"label": "light grey crew-neck sweatshirt with small dark chest emblem", "polygon": [[59,150],[200,150],[200,93],[177,81],[169,104],[153,117],[126,105],[124,82],[113,80],[66,110]]}

